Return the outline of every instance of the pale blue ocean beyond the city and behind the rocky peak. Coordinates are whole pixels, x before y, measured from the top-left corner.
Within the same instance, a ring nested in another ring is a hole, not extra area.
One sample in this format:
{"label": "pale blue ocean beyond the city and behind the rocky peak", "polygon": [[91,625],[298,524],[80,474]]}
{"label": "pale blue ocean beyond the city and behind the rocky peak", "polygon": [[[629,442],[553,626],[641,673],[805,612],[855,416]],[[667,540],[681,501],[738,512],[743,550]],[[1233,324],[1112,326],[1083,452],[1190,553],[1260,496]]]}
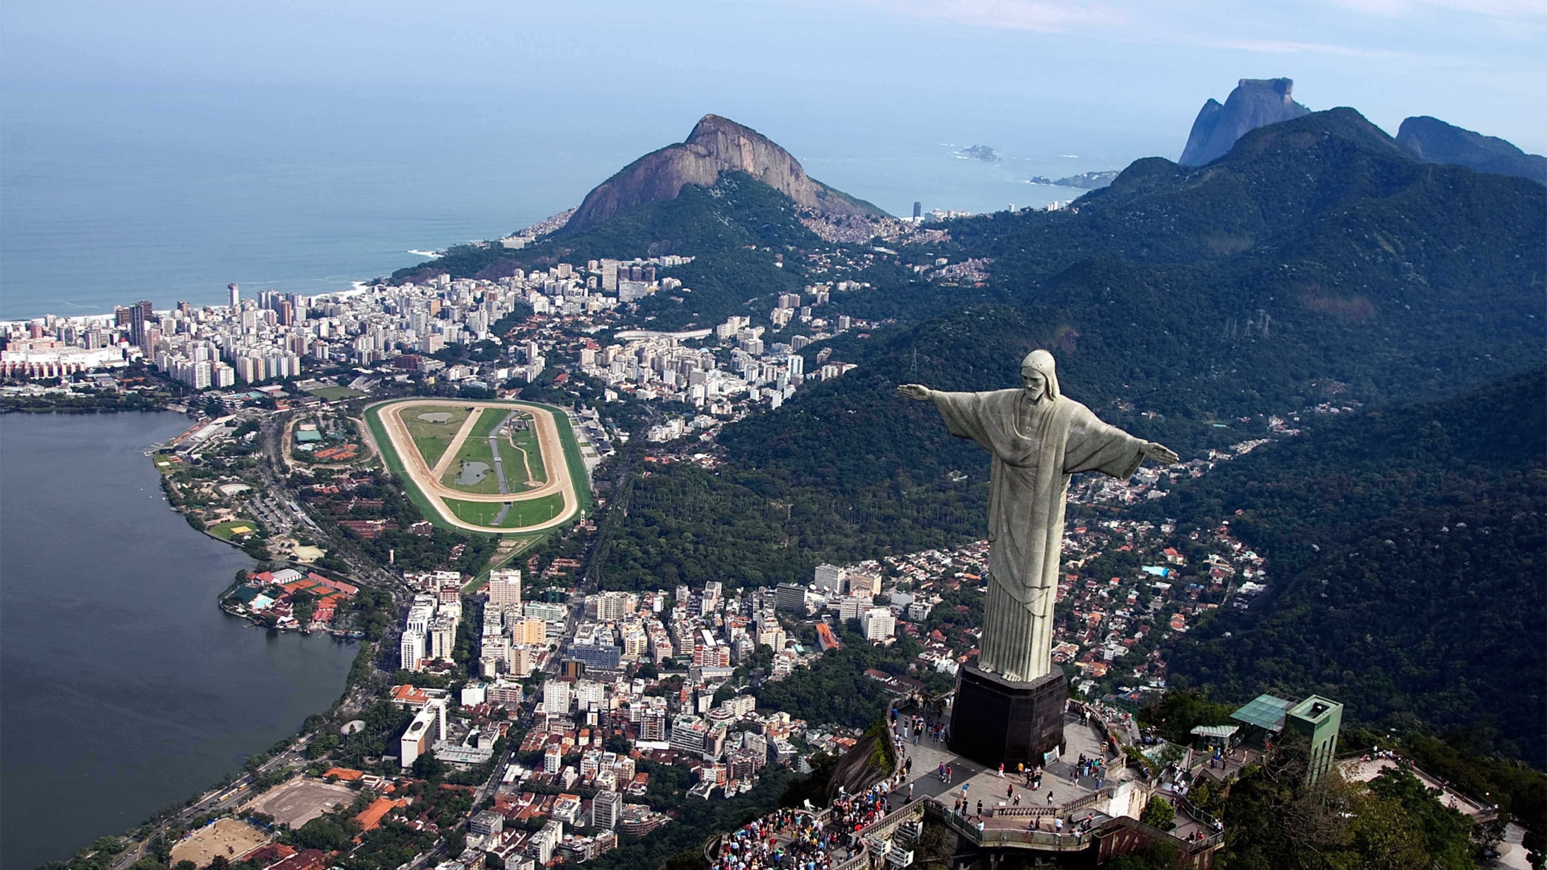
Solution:
{"label": "pale blue ocean beyond the city and behind the rocky peak", "polygon": [[[410,251],[498,237],[575,206],[636,156],[684,139],[696,121],[640,107],[622,116],[628,122],[571,121],[529,99],[504,115],[455,94],[6,99],[0,320],[110,313],[139,299],[158,310],[223,303],[231,282],[244,294],[348,289],[424,260]],[[1027,180],[1122,169],[1165,144],[1129,132],[1049,130],[1036,119],[978,141],[948,121],[834,127],[766,115],[738,119],[795,153],[812,176],[896,215],[911,214],[914,201],[985,212],[1069,200],[1080,190]],[[1001,159],[958,156],[973,144],[998,149]]]}

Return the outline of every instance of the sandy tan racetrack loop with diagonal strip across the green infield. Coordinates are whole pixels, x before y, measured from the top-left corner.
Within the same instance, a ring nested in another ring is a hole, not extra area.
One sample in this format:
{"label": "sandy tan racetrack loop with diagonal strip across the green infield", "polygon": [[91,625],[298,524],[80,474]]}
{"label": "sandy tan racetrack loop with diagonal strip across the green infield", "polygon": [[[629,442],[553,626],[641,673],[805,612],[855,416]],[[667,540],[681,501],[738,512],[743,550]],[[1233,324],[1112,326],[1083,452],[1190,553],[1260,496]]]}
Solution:
{"label": "sandy tan racetrack loop with diagonal strip across the green infield", "polygon": [[[446,486],[441,478],[450,463],[461,450],[463,443],[467,440],[469,433],[478,426],[478,420],[483,416],[484,410],[492,410],[497,413],[506,413],[514,407],[532,413],[534,430],[537,441],[540,444],[540,452],[543,458],[543,471],[548,480],[531,489],[523,489],[521,492],[466,492]],[[418,446],[413,443],[413,437],[408,427],[404,424],[404,413],[424,413],[425,410],[435,409],[473,409],[463,421],[447,446],[446,452],[441,454],[439,461],[435,468],[424,460],[419,454]],[[480,531],[480,533],[529,533],[551,529],[571,522],[580,511],[580,498],[575,491],[575,481],[569,475],[569,468],[566,463],[566,454],[563,446],[563,438],[558,432],[558,424],[554,421],[554,412],[543,406],[526,404],[526,402],[490,402],[490,401],[456,401],[456,399],[394,399],[371,406],[367,409],[368,415],[381,423],[382,430],[387,433],[388,444],[376,444],[377,449],[390,447],[396,458],[402,463],[402,469],[408,483],[418,489],[425,500],[436,511],[439,519],[450,526]],[[368,427],[367,427],[368,429]],[[552,494],[563,495],[563,509],[560,509],[552,519],[545,520],[531,526],[484,526],[475,525],[458,517],[450,506],[446,505],[447,498],[456,502],[529,502],[534,498],[543,498]]]}

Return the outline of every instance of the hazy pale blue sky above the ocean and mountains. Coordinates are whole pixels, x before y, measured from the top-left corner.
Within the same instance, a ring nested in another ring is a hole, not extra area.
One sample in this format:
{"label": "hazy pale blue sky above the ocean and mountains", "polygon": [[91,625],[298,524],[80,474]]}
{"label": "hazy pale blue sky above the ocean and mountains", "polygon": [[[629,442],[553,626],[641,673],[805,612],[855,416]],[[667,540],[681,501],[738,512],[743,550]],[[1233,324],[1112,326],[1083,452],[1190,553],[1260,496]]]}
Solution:
{"label": "hazy pale blue sky above the ocean and mountains", "polygon": [[153,91],[402,135],[540,107],[657,144],[705,111],[781,142],[1080,124],[1174,159],[1205,99],[1287,76],[1389,133],[1433,115],[1542,153],[1544,37],[1539,0],[6,0],[0,135],[8,104]]}

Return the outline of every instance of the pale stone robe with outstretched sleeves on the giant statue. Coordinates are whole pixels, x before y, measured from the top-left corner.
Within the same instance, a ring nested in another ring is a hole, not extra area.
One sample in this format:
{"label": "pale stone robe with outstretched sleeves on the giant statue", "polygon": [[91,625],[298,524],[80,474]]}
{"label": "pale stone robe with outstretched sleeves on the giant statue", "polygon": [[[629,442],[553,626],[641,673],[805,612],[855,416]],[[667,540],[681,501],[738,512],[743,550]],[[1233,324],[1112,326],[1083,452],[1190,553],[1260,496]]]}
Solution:
{"label": "pale stone robe with outstretched sleeves on the giant statue", "polygon": [[951,435],[978,441],[993,457],[978,667],[1029,683],[1052,669],[1069,477],[1100,471],[1126,478],[1143,460],[1143,441],[1064,396],[1032,401],[1019,389],[931,398]]}

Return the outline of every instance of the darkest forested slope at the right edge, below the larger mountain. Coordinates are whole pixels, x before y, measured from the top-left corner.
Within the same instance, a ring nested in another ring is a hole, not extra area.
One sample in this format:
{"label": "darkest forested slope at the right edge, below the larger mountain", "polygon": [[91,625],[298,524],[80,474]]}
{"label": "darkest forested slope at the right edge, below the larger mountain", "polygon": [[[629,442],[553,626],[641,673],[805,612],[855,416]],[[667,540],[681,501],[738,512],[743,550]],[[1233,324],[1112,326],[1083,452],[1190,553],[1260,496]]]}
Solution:
{"label": "darkest forested slope at the right edge, below the larger mountain", "polygon": [[1547,763],[1544,432],[1538,368],[1327,420],[1179,486],[1149,509],[1227,519],[1276,581],[1272,599],[1190,632],[1173,684],[1235,700],[1318,692],[1352,723],[1467,728]]}

